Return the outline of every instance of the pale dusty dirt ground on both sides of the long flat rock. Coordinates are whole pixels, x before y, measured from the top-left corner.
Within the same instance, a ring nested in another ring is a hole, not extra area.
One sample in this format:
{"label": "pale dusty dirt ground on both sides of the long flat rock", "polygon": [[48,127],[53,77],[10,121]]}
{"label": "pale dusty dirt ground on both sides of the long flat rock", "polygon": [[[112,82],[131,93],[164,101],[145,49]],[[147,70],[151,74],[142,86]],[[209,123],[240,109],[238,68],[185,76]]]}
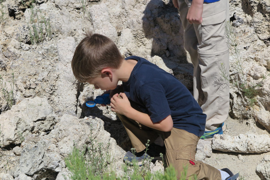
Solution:
{"label": "pale dusty dirt ground on both sides of the long flat rock", "polygon": [[[247,120],[235,120],[228,117],[225,121],[227,129],[224,134],[237,136],[239,134],[268,134],[259,124],[254,122],[248,123]],[[249,125],[251,124],[251,125]],[[213,150],[210,158],[206,158],[204,162],[214,166],[215,168],[229,168],[234,174],[239,172],[239,180],[260,180],[256,174],[256,167],[261,163],[262,159],[270,155],[270,152],[265,153],[235,153],[221,152]]]}

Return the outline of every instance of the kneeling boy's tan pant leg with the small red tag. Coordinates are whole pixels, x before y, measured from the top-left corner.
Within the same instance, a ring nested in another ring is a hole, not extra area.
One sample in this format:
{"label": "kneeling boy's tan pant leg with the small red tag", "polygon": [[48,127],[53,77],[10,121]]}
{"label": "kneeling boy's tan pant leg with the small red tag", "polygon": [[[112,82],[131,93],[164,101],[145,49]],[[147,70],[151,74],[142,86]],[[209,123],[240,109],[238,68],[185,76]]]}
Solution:
{"label": "kneeling boy's tan pant leg with the small red tag", "polygon": [[163,132],[166,147],[166,161],[176,169],[177,177],[181,176],[187,167],[187,177],[205,180],[221,180],[220,171],[201,161],[195,161],[196,147],[199,137],[185,130],[173,128],[170,132]]}

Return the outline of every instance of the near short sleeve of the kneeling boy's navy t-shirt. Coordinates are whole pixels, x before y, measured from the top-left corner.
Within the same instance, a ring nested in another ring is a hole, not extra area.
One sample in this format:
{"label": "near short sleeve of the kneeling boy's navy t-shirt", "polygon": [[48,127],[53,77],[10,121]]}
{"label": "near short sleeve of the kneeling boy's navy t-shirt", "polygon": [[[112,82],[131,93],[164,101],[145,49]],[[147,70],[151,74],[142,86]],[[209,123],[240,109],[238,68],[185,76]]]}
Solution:
{"label": "near short sleeve of the kneeling boy's navy t-shirt", "polygon": [[144,84],[139,97],[149,111],[153,123],[163,120],[171,114],[164,87],[158,82]]}

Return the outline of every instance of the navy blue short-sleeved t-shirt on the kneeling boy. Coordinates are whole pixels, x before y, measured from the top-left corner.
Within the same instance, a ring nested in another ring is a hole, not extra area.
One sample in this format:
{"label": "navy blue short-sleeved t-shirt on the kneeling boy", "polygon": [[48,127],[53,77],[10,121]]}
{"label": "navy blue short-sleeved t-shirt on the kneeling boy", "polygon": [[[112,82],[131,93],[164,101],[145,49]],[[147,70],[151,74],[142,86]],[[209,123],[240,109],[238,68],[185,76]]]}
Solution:
{"label": "navy blue short-sleeved t-shirt on the kneeling boy", "polygon": [[129,80],[123,82],[124,93],[149,114],[153,123],[171,115],[173,127],[197,136],[205,130],[206,115],[188,89],[176,77],[138,56]]}

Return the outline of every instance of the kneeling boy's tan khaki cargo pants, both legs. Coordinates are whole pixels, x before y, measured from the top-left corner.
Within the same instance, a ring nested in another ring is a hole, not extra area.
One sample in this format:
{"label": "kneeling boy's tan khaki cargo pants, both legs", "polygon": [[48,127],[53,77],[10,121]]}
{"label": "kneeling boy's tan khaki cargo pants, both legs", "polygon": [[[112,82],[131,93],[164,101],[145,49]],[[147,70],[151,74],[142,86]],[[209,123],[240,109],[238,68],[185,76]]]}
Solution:
{"label": "kneeling boy's tan khaki cargo pants, both legs", "polygon": [[[134,102],[130,103],[134,109],[141,111]],[[158,131],[122,114],[117,113],[117,116],[122,121],[136,152],[141,152],[146,148],[147,140],[150,140],[150,143],[154,142],[160,135],[164,140],[166,148],[167,165],[173,166],[176,169],[178,177],[181,175],[184,167],[187,166],[187,179],[196,174],[198,179],[221,180],[221,174],[218,169],[201,161],[195,161],[198,136],[177,128],[173,128],[170,132]]]}

